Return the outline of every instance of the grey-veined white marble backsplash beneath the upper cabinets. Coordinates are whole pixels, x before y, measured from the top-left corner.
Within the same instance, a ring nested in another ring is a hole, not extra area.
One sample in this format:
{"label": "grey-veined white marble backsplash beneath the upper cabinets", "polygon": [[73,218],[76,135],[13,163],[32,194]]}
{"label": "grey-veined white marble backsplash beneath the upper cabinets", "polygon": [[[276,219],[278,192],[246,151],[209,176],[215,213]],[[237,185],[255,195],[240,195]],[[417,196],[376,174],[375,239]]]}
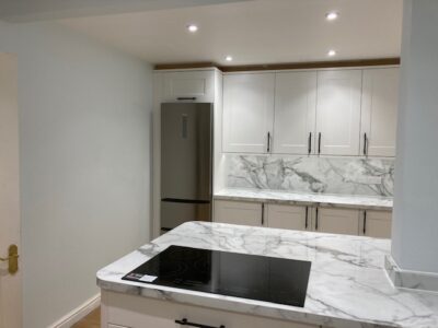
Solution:
{"label": "grey-veined white marble backsplash beneath the upper cabinets", "polygon": [[394,159],[224,156],[227,188],[393,196]]}

